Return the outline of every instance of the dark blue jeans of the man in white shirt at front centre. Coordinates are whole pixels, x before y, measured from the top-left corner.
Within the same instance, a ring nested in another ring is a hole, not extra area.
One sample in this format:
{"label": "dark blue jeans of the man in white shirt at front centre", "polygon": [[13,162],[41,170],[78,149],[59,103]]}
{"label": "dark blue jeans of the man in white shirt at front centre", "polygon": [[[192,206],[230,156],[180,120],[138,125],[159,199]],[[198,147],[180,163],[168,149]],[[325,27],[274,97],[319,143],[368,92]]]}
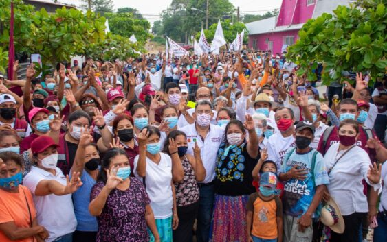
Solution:
{"label": "dark blue jeans of the man in white shirt at front centre", "polygon": [[208,242],[212,209],[214,208],[214,184],[199,187],[199,211],[197,213],[197,242]]}

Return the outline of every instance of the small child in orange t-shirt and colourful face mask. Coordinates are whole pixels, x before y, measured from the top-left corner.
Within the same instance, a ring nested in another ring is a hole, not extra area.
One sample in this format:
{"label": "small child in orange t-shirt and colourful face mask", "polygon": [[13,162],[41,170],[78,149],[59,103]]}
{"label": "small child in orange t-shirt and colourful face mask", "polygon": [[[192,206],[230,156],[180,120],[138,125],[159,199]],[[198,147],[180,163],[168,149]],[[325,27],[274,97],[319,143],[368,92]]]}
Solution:
{"label": "small child in orange t-shirt and colourful face mask", "polygon": [[277,180],[276,173],[262,173],[259,191],[252,193],[247,201],[249,242],[283,241],[283,206],[279,197],[274,195]]}

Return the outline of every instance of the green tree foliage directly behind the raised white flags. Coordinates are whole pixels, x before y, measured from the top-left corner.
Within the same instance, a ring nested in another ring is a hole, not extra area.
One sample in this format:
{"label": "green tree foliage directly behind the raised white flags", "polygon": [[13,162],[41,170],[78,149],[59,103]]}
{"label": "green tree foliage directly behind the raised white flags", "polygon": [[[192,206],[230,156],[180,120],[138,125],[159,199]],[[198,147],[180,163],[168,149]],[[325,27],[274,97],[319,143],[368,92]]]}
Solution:
{"label": "green tree foliage directly behind the raised white flags", "polygon": [[[248,41],[248,30],[246,29],[246,26],[244,23],[239,22],[232,25],[230,23],[230,20],[226,19],[225,21],[221,21],[222,28],[223,28],[223,34],[225,41],[228,43],[232,43],[234,39],[236,38],[236,32],[239,34],[245,29],[245,36],[243,38],[243,43],[247,43]],[[217,23],[214,23],[210,27],[208,27],[208,30],[204,30],[204,34],[206,35],[206,39],[208,42],[211,42],[214,38],[215,31],[217,30]],[[201,32],[197,32],[195,38],[199,40]]]}

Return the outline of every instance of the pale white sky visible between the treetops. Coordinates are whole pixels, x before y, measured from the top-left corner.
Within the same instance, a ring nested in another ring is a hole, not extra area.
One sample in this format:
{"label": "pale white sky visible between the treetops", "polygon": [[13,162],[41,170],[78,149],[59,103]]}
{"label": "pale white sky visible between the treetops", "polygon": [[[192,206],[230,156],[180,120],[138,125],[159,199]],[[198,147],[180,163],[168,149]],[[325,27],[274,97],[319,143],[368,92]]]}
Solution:
{"label": "pale white sky visible between the treetops", "polygon": [[[137,8],[145,19],[153,25],[160,19],[159,14],[165,10],[172,0],[113,0],[114,8]],[[230,0],[234,7],[240,9],[243,14],[265,14],[267,10],[280,8],[282,0]]]}

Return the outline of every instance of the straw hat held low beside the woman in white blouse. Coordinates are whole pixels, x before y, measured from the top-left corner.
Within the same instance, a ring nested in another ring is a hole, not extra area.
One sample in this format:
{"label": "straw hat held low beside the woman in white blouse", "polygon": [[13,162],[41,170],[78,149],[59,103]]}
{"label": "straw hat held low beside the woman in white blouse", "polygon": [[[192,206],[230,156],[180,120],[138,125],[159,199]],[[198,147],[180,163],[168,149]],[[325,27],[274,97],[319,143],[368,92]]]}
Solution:
{"label": "straw hat held low beside the woman in white blouse", "polygon": [[322,207],[320,221],[338,234],[344,232],[345,225],[342,213],[340,213],[340,208],[332,197],[330,197],[327,204]]}

